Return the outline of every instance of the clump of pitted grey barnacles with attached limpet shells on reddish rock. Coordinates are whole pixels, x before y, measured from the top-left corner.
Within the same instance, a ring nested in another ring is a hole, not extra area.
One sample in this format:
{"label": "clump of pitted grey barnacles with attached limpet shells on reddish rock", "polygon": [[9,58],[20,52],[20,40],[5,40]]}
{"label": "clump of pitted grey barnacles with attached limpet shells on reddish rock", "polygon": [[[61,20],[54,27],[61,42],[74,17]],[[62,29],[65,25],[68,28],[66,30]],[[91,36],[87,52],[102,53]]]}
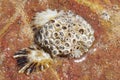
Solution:
{"label": "clump of pitted grey barnacles with attached limpet shells on reddish rock", "polygon": [[44,70],[56,57],[80,58],[95,40],[91,25],[70,10],[38,12],[33,25],[34,44],[14,55],[20,73]]}

